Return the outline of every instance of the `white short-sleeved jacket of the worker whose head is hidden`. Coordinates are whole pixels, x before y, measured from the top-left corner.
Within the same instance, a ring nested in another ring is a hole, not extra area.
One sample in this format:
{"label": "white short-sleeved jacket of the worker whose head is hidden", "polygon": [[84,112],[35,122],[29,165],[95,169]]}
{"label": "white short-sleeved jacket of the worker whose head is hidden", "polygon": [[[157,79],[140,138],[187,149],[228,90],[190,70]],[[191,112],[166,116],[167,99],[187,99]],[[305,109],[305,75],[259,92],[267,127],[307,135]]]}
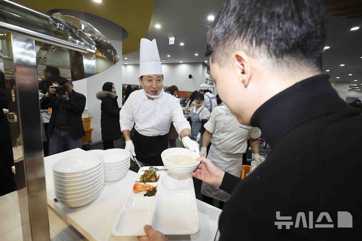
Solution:
{"label": "white short-sleeved jacket of the worker whose head is hidden", "polygon": [[241,125],[226,105],[217,106],[204,125],[211,132],[211,143],[223,153],[245,153],[248,137],[260,137],[260,129]]}

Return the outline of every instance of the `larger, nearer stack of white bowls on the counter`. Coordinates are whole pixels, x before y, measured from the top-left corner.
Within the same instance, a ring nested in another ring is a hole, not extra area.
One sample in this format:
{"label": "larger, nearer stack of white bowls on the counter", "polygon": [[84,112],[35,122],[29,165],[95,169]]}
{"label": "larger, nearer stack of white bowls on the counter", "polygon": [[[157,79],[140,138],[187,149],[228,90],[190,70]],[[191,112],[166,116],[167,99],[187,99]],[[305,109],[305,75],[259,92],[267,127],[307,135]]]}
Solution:
{"label": "larger, nearer stack of white bowls on the counter", "polygon": [[77,153],[52,165],[54,192],[67,207],[80,207],[95,200],[104,186],[102,156]]}

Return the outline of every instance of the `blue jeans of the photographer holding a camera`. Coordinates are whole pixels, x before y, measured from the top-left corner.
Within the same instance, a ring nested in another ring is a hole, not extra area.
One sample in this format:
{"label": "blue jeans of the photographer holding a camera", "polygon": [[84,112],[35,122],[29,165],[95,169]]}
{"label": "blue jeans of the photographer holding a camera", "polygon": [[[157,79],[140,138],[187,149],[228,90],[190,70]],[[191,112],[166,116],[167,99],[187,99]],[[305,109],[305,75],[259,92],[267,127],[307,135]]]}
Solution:
{"label": "blue jeans of the photographer holding a camera", "polygon": [[69,131],[62,131],[54,128],[49,140],[49,156],[64,152],[64,146],[67,144],[68,149],[81,149],[81,138],[73,139],[69,136]]}

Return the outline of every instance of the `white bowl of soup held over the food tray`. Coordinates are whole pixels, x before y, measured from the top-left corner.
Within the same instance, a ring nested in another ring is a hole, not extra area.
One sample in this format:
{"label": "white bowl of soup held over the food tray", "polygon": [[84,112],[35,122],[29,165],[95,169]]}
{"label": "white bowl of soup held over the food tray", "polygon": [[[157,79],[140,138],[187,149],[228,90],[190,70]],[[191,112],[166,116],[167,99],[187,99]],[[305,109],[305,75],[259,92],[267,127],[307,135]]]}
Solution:
{"label": "white bowl of soup held over the food tray", "polygon": [[197,154],[186,148],[169,148],[161,153],[163,165],[177,175],[192,173],[200,164]]}

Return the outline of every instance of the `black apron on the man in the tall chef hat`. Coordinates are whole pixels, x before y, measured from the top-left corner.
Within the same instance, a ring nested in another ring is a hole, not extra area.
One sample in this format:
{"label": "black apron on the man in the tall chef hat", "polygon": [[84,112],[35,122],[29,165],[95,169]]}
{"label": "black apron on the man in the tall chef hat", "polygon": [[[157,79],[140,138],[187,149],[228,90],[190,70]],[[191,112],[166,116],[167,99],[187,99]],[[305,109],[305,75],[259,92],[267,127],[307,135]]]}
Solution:
{"label": "black apron on the man in the tall chef hat", "polygon": [[163,166],[161,153],[168,148],[168,134],[147,137],[134,130],[132,141],[139,162],[147,166]]}

